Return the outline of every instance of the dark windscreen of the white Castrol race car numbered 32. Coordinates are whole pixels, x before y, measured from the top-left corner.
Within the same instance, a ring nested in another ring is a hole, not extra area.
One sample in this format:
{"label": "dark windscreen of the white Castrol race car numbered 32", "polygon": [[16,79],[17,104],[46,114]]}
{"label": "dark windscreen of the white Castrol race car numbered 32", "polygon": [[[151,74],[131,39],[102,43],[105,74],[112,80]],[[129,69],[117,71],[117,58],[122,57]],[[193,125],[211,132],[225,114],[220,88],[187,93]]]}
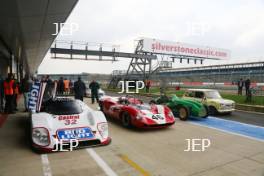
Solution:
{"label": "dark windscreen of the white Castrol race car numbered 32", "polygon": [[45,111],[53,115],[72,115],[82,113],[82,108],[74,100],[52,100],[47,103]]}

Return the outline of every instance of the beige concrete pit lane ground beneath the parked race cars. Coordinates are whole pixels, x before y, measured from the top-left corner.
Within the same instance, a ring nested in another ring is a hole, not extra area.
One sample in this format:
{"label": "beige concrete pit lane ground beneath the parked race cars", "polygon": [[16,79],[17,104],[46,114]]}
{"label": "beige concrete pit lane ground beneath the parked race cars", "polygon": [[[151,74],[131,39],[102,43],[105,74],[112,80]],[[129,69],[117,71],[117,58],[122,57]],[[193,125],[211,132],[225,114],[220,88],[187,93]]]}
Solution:
{"label": "beige concrete pit lane ground beneath the parked race cars", "polygon": [[[108,146],[37,154],[29,145],[28,116],[18,112],[2,120],[0,176],[264,176],[264,142],[178,119],[172,127],[147,131],[109,120]],[[209,139],[211,145],[184,151],[187,139]]]}

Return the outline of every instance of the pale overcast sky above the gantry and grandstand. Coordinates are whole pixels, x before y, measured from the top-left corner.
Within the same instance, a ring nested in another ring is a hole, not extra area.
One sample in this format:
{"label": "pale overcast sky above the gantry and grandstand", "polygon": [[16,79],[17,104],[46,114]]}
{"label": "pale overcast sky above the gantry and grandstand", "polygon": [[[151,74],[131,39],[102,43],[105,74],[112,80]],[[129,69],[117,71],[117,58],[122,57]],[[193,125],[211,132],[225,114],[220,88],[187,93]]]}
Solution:
{"label": "pale overcast sky above the gantry and grandstand", "polygon": [[[116,44],[120,51],[133,52],[136,39],[149,37],[231,51],[228,61],[205,61],[204,65],[264,61],[263,19],[263,0],[79,0],[67,20],[78,24],[78,31],[57,39]],[[129,59],[120,60],[54,60],[47,54],[38,73],[126,70]],[[194,64],[177,61],[173,66]]]}

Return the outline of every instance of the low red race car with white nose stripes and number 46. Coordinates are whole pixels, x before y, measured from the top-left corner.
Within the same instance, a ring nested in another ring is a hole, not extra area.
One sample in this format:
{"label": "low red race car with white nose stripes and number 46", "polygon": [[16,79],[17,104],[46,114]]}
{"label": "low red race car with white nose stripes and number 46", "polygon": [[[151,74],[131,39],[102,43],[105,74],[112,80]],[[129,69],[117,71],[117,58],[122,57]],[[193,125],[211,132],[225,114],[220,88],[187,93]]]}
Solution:
{"label": "low red race car with white nose stripes and number 46", "polygon": [[103,97],[99,105],[106,116],[120,120],[124,127],[164,128],[175,123],[167,106],[145,104],[137,98]]}

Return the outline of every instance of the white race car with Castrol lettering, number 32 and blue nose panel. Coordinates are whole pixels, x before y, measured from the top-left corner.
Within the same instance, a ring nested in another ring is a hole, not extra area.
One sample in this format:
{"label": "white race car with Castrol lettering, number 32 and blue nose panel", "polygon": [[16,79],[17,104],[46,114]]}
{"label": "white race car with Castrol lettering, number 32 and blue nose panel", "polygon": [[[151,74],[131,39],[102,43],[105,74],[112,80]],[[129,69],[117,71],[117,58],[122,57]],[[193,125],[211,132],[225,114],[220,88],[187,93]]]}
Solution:
{"label": "white race car with Castrol lettering, number 32 and blue nose panel", "polygon": [[31,141],[34,149],[51,152],[72,146],[107,145],[111,138],[102,112],[80,100],[61,97],[43,101],[39,112],[32,112]]}

